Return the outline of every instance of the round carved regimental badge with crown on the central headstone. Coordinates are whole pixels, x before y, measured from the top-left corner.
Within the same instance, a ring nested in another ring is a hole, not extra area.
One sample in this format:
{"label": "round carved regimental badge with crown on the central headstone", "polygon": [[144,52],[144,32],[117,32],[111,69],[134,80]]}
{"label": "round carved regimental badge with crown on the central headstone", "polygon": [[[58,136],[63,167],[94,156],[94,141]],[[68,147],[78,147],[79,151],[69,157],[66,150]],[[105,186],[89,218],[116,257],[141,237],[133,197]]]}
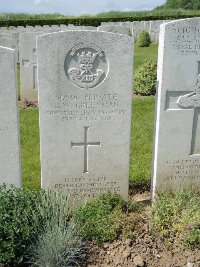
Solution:
{"label": "round carved regimental badge with crown on the central headstone", "polygon": [[107,75],[105,53],[94,44],[80,44],[70,50],[65,59],[65,72],[71,83],[81,88],[93,88]]}

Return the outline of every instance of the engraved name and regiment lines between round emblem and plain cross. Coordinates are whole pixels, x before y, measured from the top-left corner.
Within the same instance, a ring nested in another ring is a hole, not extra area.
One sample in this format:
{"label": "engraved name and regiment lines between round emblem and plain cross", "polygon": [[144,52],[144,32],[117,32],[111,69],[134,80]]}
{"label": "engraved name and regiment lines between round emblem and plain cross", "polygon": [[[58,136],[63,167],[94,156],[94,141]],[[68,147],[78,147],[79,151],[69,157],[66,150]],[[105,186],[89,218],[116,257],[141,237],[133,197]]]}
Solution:
{"label": "engraved name and regiment lines between round emblem and plain cross", "polygon": [[61,121],[105,121],[125,114],[118,94],[57,94],[50,117]]}

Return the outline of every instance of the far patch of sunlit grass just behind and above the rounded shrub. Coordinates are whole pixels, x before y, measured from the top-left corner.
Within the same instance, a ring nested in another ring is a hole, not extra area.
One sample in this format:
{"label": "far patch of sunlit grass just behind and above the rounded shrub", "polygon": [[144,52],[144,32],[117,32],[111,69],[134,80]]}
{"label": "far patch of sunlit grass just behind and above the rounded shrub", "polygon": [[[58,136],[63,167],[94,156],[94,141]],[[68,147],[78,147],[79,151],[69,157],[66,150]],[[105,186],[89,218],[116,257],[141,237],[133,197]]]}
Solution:
{"label": "far patch of sunlit grass just behind and above the rounded shrub", "polygon": [[158,57],[158,45],[152,43],[149,47],[137,47],[135,44],[134,71],[142,65],[146,59],[155,59]]}

